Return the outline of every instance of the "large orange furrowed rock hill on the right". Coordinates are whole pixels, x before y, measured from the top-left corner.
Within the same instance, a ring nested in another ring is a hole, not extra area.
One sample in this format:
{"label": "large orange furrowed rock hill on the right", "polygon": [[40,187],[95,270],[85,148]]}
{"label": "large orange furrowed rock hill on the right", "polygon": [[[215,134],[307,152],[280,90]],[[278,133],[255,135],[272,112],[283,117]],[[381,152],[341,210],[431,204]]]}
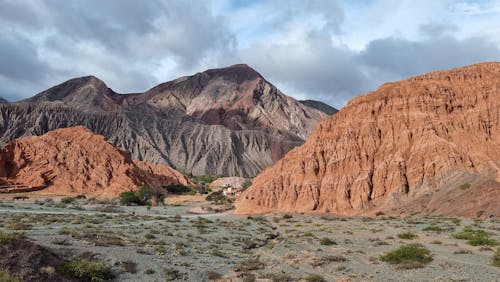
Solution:
{"label": "large orange furrowed rock hill on the right", "polygon": [[500,63],[387,83],[256,177],[237,212],[500,215],[499,126]]}

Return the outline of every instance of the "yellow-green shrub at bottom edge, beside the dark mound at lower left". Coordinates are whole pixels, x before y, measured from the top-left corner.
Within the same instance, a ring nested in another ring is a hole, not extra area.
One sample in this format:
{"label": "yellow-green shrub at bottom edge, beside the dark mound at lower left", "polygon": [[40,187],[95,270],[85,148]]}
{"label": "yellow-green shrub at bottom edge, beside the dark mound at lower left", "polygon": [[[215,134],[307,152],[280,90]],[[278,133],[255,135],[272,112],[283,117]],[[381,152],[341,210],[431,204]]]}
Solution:
{"label": "yellow-green shrub at bottom edge, beside the dark mound at lower left", "polygon": [[104,264],[84,259],[63,263],[59,272],[82,281],[104,281],[112,278],[109,268]]}

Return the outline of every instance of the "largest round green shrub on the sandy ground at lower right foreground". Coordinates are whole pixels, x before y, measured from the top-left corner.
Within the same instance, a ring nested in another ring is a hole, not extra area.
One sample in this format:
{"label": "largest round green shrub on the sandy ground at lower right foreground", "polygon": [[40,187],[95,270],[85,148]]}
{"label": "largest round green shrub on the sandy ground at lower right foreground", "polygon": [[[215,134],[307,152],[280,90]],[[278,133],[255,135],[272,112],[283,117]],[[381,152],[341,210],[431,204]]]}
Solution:
{"label": "largest round green shrub on the sandy ground at lower right foreground", "polygon": [[399,247],[380,257],[381,261],[398,265],[398,268],[412,269],[421,268],[431,262],[432,256],[429,250],[419,244],[410,244]]}

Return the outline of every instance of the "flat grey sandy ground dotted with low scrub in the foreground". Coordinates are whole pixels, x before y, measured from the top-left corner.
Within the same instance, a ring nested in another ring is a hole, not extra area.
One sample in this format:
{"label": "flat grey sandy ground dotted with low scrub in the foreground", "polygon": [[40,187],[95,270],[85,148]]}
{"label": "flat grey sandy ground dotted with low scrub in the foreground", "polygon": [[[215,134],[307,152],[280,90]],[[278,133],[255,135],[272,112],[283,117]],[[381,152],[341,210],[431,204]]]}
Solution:
{"label": "flat grey sandy ground dotted with low scrub in the foreground", "polygon": [[[451,237],[472,226],[500,240],[499,221],[196,215],[189,212],[202,203],[196,197],[169,203],[149,209],[2,203],[0,226],[13,232],[12,223],[25,222],[26,230],[17,231],[30,240],[68,256],[92,256],[117,281],[307,281],[312,274],[325,281],[500,281],[500,268],[489,263],[495,247]],[[442,231],[423,231],[428,226]],[[402,232],[417,237],[400,239]],[[325,239],[334,244],[321,244]],[[422,244],[434,260],[411,270],[379,260],[408,243]]]}

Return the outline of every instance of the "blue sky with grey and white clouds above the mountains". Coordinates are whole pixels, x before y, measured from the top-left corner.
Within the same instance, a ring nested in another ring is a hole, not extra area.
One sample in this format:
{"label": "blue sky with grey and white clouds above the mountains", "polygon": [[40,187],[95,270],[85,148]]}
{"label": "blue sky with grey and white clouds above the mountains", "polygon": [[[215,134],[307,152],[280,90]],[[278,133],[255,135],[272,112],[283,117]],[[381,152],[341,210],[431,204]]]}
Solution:
{"label": "blue sky with grey and white clouds above the mountains", "polygon": [[500,61],[500,0],[0,0],[0,96],[95,75],[120,93],[246,63],[341,107],[424,72]]}

